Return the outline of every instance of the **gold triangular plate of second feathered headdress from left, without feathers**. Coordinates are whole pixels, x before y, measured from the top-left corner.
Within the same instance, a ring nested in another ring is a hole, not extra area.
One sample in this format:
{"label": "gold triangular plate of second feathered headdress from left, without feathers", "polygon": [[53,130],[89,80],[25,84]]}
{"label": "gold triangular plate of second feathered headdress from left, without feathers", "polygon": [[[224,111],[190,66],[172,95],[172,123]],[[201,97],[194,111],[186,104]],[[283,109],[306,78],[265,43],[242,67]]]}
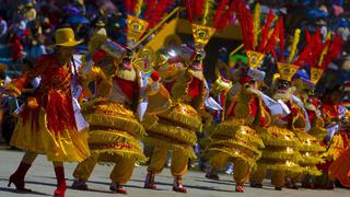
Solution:
{"label": "gold triangular plate of second feathered headdress from left, without feathers", "polygon": [[205,48],[205,46],[208,44],[209,39],[212,35],[214,35],[214,33],[215,28],[213,27],[192,24],[192,36],[196,47]]}

